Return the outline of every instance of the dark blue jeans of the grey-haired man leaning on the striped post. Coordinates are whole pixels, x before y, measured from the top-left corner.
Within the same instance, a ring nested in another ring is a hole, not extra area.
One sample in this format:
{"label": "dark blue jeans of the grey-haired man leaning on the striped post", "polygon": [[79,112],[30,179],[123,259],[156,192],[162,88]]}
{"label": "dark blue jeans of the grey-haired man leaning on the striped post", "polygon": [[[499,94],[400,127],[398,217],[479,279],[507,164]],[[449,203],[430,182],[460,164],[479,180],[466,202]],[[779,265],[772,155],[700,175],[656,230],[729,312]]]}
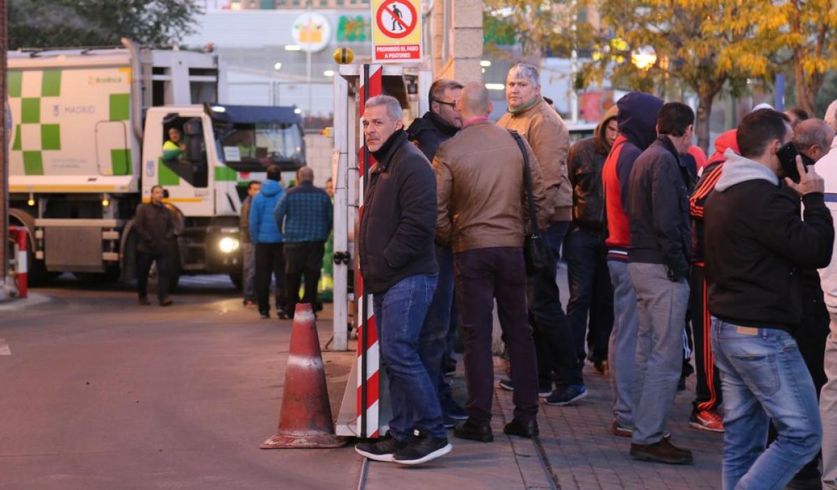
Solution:
{"label": "dark blue jeans of the grey-haired man leaning on the striped post", "polygon": [[393,401],[389,430],[401,442],[408,442],[416,428],[435,437],[447,437],[436,380],[430,379],[419,355],[424,317],[436,281],[436,274],[410,276],[372,299]]}

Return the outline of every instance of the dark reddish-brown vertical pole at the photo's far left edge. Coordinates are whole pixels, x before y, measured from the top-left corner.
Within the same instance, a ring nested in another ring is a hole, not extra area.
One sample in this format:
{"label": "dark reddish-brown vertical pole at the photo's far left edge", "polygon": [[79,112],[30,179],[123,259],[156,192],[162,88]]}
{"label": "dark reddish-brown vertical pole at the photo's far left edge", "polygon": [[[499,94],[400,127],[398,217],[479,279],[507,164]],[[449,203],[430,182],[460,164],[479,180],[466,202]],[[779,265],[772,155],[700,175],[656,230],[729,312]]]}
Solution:
{"label": "dark reddish-brown vertical pole at the photo's far left edge", "polygon": [[6,52],[8,29],[6,0],[0,0],[0,288],[5,287],[8,272],[8,105]]}

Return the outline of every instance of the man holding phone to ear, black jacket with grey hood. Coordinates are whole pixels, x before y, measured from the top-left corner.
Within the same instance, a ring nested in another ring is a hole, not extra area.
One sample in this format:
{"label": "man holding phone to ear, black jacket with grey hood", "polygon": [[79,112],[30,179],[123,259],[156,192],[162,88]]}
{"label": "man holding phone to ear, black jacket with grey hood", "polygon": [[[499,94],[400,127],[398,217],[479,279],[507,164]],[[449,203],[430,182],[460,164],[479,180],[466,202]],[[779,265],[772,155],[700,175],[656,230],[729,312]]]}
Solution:
{"label": "man holding phone to ear, black jacket with grey hood", "polygon": [[[804,269],[829,264],[834,225],[824,181],[797,157],[799,183],[776,152],[793,139],[788,116],[757,110],[736,135],[704,207],[711,344],[724,404],[724,488],[783,488],[817,453],[817,396],[793,334],[803,314]],[[804,327],[804,325],[803,325]],[[770,421],[778,437],[765,450]]]}

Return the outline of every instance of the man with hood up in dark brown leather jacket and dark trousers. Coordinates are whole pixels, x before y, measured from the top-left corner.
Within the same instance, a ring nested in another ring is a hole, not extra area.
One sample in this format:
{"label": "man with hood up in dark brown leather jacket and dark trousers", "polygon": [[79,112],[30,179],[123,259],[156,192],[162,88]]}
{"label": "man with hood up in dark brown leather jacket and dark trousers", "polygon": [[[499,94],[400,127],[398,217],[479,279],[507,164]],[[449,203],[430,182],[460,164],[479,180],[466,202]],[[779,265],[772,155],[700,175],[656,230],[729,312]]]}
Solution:
{"label": "man with hood up in dark brown leather jacket and dark trousers", "polygon": [[601,374],[608,361],[608,341],[614,326],[614,289],[608,274],[604,238],[604,189],[602,168],[610,147],[619,136],[615,105],[596,126],[592,138],[576,142],[567,158],[573,185],[573,224],[564,241],[570,299],[567,322],[573,332],[576,354],[584,358],[584,331],[588,328],[588,357]]}

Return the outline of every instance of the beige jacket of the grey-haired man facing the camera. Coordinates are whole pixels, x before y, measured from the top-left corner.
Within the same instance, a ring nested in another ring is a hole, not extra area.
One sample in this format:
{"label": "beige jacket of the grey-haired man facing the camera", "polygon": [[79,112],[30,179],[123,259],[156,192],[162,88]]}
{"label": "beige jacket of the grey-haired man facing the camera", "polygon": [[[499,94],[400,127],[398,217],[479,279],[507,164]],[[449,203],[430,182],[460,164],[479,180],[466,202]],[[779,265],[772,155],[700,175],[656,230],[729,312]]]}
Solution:
{"label": "beige jacket of the grey-haired man facing the camera", "polygon": [[549,220],[568,222],[573,218],[573,186],[567,178],[570,133],[561,116],[538,95],[537,102],[520,113],[506,112],[497,125],[516,130],[531,145],[541,164],[547,186]]}

